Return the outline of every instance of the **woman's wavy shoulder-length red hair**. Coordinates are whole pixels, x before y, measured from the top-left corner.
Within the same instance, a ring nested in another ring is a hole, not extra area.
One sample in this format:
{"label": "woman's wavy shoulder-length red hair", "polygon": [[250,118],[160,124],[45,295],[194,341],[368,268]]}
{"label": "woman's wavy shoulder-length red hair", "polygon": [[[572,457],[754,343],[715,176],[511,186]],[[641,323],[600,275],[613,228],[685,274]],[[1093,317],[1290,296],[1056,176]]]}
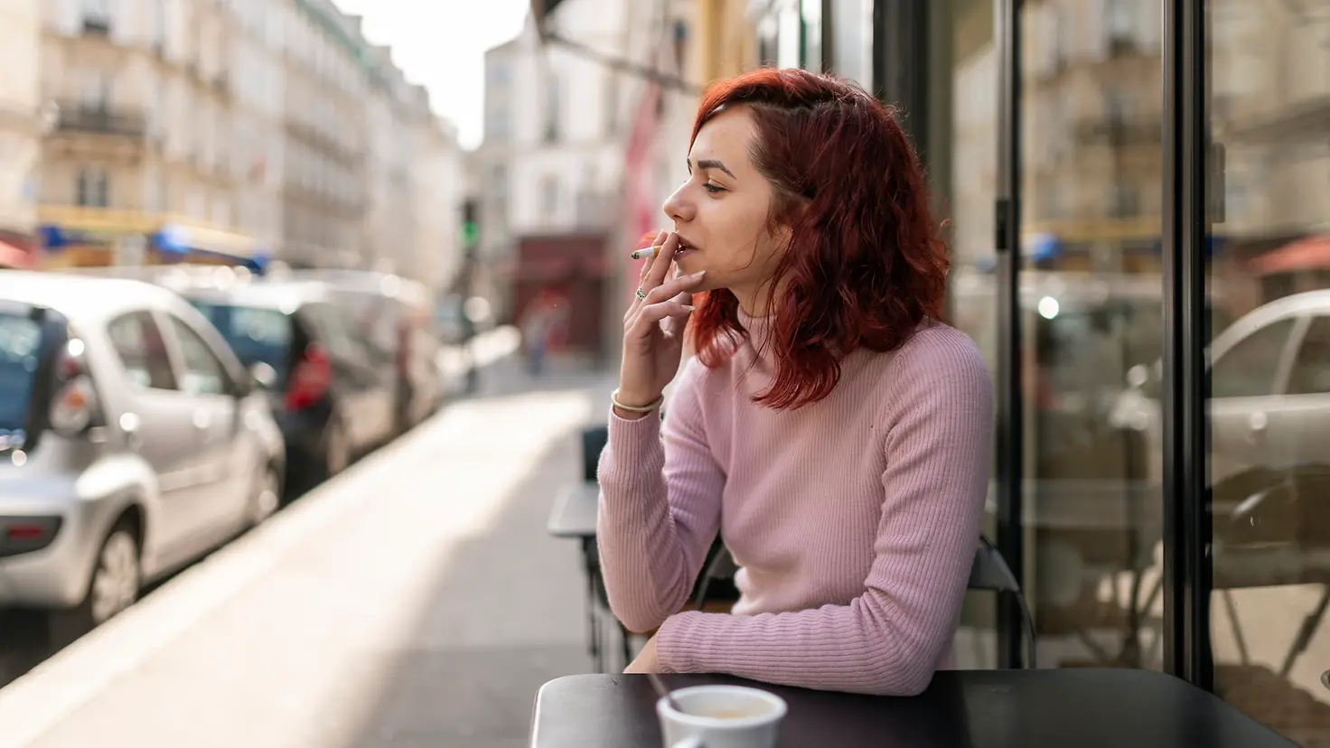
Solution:
{"label": "woman's wavy shoulder-length red hair", "polygon": [[[947,246],[895,110],[861,87],[802,69],[753,71],[706,92],[693,140],[734,106],[750,112],[750,156],[774,185],[771,226],[791,229],[767,298],[775,378],[754,401],[797,409],[831,393],[843,355],[895,350],[924,318],[942,318]],[[733,335],[746,337],[738,298],[700,294],[690,329],[698,359],[721,366]]]}

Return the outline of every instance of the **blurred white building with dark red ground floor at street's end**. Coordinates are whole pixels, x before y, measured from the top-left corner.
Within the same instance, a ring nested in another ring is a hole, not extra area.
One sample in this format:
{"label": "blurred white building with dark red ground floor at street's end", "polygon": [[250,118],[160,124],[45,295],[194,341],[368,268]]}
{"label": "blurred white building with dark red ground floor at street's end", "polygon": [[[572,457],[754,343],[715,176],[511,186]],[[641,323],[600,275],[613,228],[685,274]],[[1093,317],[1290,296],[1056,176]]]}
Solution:
{"label": "blurred white building with dark red ground floor at street's end", "polygon": [[597,355],[630,293],[630,245],[644,221],[664,225],[660,205],[685,178],[696,109],[696,92],[637,72],[682,77],[690,23],[692,3],[565,0],[547,31],[571,44],[528,21],[485,56],[481,276],[512,318],[536,299],[565,305],[575,347]]}

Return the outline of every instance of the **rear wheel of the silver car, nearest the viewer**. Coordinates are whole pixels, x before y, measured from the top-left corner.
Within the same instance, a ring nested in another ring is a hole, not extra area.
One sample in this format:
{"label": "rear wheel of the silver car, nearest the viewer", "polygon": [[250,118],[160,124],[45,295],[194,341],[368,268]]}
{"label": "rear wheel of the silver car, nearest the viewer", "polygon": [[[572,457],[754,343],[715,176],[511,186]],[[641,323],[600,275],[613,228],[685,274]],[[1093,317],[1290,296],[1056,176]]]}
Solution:
{"label": "rear wheel of the silver car, nearest the viewer", "polygon": [[51,635],[59,646],[106,623],[138,600],[142,566],[138,539],[126,522],[117,523],[102,542],[93,564],[88,594],[70,611],[51,615]]}

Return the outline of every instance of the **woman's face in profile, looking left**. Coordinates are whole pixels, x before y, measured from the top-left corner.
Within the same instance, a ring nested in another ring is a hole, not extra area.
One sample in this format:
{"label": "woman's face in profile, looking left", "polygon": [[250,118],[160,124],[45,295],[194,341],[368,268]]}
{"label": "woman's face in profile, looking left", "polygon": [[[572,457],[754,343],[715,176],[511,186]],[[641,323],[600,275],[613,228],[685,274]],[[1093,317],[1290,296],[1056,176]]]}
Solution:
{"label": "woman's face in profile, looking left", "polygon": [[680,270],[706,270],[698,290],[730,289],[745,311],[763,314],[765,286],[789,229],[769,230],[774,188],[749,157],[755,136],[743,106],[712,117],[688,156],[689,180],[664,209],[682,242]]}

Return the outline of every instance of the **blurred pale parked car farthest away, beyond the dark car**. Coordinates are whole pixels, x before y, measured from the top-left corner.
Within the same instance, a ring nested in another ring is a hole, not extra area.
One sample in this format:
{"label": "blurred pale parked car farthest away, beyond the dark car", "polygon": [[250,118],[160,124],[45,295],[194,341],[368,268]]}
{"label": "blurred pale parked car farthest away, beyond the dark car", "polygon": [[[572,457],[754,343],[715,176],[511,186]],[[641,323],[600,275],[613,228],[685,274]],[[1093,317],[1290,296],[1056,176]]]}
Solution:
{"label": "blurred pale parked car farthest away, beyond the dark car", "polygon": [[447,387],[439,367],[440,345],[423,285],[366,270],[293,270],[290,277],[327,283],[372,359],[394,367],[396,433],[412,429],[443,405]]}

